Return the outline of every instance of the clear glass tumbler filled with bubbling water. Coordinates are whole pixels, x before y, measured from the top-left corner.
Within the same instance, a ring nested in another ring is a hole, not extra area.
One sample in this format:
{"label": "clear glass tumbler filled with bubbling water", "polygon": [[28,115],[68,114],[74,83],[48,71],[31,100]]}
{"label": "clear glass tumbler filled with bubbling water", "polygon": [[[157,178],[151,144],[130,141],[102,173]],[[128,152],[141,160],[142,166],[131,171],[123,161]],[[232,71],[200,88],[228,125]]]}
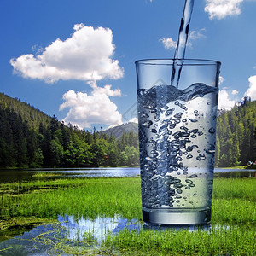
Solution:
{"label": "clear glass tumbler filled with bubbling water", "polygon": [[[175,65],[182,68],[172,86]],[[136,67],[143,221],[209,224],[220,62],[140,60]]]}

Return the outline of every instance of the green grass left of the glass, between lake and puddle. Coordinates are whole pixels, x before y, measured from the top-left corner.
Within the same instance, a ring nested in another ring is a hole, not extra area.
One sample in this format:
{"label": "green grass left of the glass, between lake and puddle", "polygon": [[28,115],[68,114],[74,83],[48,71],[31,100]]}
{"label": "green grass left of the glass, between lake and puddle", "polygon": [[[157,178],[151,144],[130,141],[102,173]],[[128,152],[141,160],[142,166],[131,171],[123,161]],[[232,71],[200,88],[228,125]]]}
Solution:
{"label": "green grass left of the glass, between lake and puddle", "polygon": [[1,191],[0,216],[55,218],[58,214],[69,214],[95,218],[119,214],[141,218],[142,215],[138,177],[9,183],[3,184]]}

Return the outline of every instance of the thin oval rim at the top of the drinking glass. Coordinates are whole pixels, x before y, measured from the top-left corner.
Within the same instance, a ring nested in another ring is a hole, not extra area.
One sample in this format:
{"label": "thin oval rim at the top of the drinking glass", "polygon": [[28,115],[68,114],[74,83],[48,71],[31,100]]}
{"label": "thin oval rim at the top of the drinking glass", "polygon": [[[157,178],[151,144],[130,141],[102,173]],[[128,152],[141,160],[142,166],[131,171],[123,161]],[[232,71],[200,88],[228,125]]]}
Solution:
{"label": "thin oval rim at the top of the drinking glass", "polygon": [[[157,61],[160,61],[157,63]],[[170,61],[170,62],[167,62]],[[221,65],[220,61],[206,60],[206,59],[174,59],[174,58],[162,58],[162,59],[141,59],[135,61],[135,64],[145,65],[172,65],[174,61],[184,61],[183,65]],[[193,63],[195,61],[195,63]],[[165,63],[166,62],[166,63]],[[187,63],[186,63],[187,62]],[[190,63],[188,63],[190,62]]]}

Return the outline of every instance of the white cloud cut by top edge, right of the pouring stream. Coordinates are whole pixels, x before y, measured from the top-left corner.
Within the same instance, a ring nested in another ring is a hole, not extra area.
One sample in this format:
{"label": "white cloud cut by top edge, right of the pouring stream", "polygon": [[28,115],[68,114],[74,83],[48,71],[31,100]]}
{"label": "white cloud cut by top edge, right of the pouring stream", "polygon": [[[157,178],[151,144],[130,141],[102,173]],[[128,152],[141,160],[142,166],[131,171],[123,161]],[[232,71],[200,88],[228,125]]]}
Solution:
{"label": "white cloud cut by top edge, right of the pouring stream", "polygon": [[244,0],[206,0],[205,12],[208,13],[210,20],[214,18],[220,20],[226,16],[240,15],[241,3]]}

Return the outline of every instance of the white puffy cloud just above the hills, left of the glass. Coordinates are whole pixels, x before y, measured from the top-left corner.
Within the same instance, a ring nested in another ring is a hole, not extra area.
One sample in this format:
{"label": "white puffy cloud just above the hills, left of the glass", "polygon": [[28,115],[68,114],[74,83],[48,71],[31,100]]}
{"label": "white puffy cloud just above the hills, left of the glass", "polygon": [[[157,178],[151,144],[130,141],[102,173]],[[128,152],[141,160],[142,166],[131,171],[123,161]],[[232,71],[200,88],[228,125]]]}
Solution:
{"label": "white puffy cloud just above the hills, left of the glass", "polygon": [[90,86],[93,88],[90,95],[69,90],[62,96],[65,102],[60,110],[69,109],[64,122],[78,125],[79,128],[90,128],[92,124],[121,125],[122,115],[109,99],[109,96],[120,96],[121,91],[112,90],[109,84],[103,88],[97,87],[96,83]]}

